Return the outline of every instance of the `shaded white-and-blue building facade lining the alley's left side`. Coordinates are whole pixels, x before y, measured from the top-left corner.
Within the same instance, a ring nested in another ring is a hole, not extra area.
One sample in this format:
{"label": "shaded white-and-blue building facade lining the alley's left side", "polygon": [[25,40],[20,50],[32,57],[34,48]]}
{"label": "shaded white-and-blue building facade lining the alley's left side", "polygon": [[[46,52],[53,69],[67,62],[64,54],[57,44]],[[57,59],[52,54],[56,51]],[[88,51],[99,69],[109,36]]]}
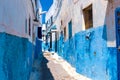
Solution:
{"label": "shaded white-and-blue building facade lining the alley's left side", "polygon": [[29,80],[40,26],[38,8],[39,0],[0,0],[0,80]]}

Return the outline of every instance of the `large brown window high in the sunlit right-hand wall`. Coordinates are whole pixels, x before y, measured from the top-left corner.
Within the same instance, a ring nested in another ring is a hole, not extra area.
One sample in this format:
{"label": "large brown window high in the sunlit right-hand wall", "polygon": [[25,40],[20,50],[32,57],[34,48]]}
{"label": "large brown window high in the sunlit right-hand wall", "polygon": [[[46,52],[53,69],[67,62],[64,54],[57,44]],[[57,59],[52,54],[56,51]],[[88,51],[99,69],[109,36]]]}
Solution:
{"label": "large brown window high in the sunlit right-hand wall", "polygon": [[85,29],[93,27],[92,4],[83,9],[83,15],[85,20]]}

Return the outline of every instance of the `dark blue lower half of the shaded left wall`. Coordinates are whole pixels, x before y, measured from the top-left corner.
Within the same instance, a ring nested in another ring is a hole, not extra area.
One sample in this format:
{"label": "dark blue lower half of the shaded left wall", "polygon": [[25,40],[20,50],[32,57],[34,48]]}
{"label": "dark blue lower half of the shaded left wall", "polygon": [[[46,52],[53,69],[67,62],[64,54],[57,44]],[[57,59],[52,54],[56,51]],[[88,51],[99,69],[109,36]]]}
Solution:
{"label": "dark blue lower half of the shaded left wall", "polygon": [[33,51],[28,39],[0,33],[0,80],[29,80]]}

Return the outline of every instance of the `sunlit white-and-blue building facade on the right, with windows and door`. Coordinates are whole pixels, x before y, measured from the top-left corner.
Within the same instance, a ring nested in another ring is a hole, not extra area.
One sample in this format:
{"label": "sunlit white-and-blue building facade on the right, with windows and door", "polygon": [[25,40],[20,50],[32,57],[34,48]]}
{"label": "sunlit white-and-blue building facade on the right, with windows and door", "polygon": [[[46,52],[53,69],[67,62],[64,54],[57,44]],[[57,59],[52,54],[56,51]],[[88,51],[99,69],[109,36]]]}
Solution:
{"label": "sunlit white-and-blue building facade on the right, with windows and door", "polygon": [[58,4],[59,10],[54,10],[58,14],[51,15],[53,21],[47,29],[48,49],[92,80],[120,80],[120,1],[59,1],[62,6]]}

